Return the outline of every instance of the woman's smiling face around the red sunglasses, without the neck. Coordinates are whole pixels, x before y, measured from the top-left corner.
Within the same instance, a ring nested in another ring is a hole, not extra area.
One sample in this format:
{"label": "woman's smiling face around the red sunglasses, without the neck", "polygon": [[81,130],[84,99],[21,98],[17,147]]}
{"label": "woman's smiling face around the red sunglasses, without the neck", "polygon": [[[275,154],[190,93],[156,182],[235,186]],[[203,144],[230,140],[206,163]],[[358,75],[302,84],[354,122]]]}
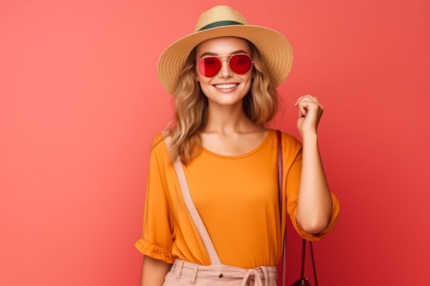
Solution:
{"label": "woman's smiling face around the red sunglasses, without the neck", "polygon": [[[196,80],[200,83],[209,106],[242,104],[243,97],[251,88],[253,68],[247,73],[235,73],[229,67],[229,59],[232,55],[244,53],[250,56],[249,45],[246,40],[236,37],[213,38],[196,47]],[[199,71],[199,61],[210,56],[220,58],[221,67],[212,77],[205,77]]]}

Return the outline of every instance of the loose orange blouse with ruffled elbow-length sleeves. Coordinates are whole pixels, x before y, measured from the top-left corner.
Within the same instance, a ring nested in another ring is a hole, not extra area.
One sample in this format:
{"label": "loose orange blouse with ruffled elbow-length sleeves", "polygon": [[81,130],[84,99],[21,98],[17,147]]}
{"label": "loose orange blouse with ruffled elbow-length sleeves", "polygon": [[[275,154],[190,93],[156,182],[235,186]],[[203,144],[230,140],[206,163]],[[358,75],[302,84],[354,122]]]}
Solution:
{"label": "loose orange blouse with ruffled elbow-length sleeves", "polygon": [[[286,213],[301,237],[315,241],[337,223],[339,202],[332,194],[332,219],[319,235],[295,221],[302,168],[302,145],[282,133],[284,178],[282,223],[278,205],[276,135],[270,130],[253,151],[223,156],[203,148],[184,166],[192,200],[223,264],[246,269],[275,266],[282,256]],[[282,225],[282,229],[280,226]],[[203,242],[183,202],[162,135],[152,141],[144,230],[135,244],[145,255],[173,263],[181,259],[210,265]]]}

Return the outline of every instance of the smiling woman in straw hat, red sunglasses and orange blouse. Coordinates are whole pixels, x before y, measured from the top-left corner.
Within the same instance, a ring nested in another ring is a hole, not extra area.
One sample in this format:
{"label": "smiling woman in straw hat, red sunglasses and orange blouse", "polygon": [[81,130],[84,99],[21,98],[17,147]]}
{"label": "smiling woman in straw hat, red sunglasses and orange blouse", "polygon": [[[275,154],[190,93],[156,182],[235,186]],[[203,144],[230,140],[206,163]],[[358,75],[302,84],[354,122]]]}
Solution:
{"label": "smiling woman in straw hat, red sunglasses and orange blouse", "polygon": [[278,200],[277,140],[264,124],[290,67],[282,34],[248,25],[228,6],[201,14],[194,33],[163,52],[159,78],[174,96],[176,125],[152,142],[136,243],[145,254],[141,285],[275,285],[287,214],[311,241],[335,227],[339,202],[319,156],[316,97],[295,104],[303,144],[282,133]]}

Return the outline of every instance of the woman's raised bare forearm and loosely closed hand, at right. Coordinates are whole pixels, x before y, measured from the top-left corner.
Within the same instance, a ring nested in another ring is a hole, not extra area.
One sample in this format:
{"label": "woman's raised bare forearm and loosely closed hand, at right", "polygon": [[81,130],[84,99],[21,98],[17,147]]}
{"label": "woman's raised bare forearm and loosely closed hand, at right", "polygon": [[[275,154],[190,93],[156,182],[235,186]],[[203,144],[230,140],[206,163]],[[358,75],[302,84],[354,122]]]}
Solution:
{"label": "woman's raised bare forearm and loosely closed hand, at right", "polygon": [[311,95],[299,97],[295,106],[299,113],[297,129],[303,141],[296,220],[306,232],[318,234],[327,228],[332,216],[332,197],[317,139],[317,127],[324,109]]}

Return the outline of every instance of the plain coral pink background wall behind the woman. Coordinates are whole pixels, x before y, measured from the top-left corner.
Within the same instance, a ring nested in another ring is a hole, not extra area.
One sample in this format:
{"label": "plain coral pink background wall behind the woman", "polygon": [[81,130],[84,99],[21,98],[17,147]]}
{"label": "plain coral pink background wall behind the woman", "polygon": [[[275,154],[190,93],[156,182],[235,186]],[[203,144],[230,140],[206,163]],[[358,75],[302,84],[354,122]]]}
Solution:
{"label": "plain coral pink background wall behind the woman", "polygon": [[149,145],[171,118],[157,59],[219,3],[293,45],[272,126],[297,136],[299,95],[325,106],[341,217],[315,243],[319,283],[425,283],[429,1],[111,0],[0,1],[0,285],[138,285]]}

